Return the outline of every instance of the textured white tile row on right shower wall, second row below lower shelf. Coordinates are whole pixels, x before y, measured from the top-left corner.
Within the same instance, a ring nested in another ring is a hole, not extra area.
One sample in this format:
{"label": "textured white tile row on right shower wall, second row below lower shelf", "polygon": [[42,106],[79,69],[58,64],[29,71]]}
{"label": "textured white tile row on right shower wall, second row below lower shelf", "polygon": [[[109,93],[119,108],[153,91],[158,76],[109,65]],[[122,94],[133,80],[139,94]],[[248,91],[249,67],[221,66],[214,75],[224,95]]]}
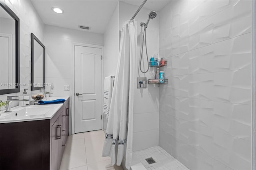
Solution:
{"label": "textured white tile row on right shower wall, second row below lower shelf", "polygon": [[[160,128],[163,127],[162,123],[166,123],[169,127],[176,129],[181,126],[180,121],[188,121],[191,123],[188,126],[192,126],[194,130],[201,126],[209,128],[211,131],[218,130],[238,138],[250,138],[250,105],[172,96],[169,96],[169,98],[168,101],[160,99],[159,119],[160,122],[162,121]],[[177,119],[178,121],[175,121]],[[168,131],[169,129],[166,127],[163,130]],[[198,130],[196,131],[198,132]],[[184,135],[186,136],[189,133],[186,131]],[[206,131],[203,131],[203,133],[206,134]],[[211,136],[212,132],[208,135]]]}

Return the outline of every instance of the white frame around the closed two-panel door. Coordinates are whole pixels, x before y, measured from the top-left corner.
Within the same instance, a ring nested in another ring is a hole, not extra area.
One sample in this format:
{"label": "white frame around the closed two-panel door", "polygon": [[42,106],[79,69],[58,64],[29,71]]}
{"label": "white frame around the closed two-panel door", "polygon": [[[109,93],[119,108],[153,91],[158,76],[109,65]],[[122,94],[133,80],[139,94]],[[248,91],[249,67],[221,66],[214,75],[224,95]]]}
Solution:
{"label": "white frame around the closed two-panel door", "polygon": [[[92,47],[92,48],[99,48],[101,49],[101,72],[102,72],[102,100],[101,105],[103,105],[103,91],[104,91],[104,46],[102,45],[94,45],[94,44],[88,44],[88,43],[77,43],[72,42],[72,61],[71,61],[71,81],[72,81],[72,88],[71,88],[71,134],[75,133],[75,46],[82,46],[82,47]],[[102,115],[102,112],[101,112]],[[103,115],[102,115],[103,117]],[[101,120],[101,129],[103,129],[103,119]]]}

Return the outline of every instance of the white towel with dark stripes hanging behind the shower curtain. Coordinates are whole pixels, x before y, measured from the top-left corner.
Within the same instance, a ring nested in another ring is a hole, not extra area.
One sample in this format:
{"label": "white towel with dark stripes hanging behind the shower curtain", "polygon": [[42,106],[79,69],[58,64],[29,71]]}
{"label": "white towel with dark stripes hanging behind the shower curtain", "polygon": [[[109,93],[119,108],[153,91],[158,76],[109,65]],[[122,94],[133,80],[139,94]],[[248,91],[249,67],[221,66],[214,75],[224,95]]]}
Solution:
{"label": "white towel with dark stripes hanging behind the shower curtain", "polygon": [[106,114],[108,120],[109,108],[112,97],[113,81],[111,76],[104,78],[104,101],[103,101],[103,114]]}

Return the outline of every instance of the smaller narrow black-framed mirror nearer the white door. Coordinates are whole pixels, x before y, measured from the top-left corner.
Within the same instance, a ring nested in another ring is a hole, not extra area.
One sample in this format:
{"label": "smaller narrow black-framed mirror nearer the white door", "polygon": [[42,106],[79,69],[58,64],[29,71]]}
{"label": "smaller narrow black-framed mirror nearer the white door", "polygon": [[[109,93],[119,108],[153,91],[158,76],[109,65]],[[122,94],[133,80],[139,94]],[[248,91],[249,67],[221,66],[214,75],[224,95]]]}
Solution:
{"label": "smaller narrow black-framed mirror nearer the white door", "polygon": [[31,90],[39,90],[45,83],[45,46],[31,33]]}

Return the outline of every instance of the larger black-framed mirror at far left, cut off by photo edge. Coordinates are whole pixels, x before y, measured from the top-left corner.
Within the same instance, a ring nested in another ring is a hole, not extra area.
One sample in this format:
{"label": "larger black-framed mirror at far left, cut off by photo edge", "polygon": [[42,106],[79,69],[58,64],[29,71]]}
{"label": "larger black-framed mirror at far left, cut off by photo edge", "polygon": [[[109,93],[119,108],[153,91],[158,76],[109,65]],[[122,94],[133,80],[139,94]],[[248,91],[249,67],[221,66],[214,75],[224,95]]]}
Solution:
{"label": "larger black-framed mirror at far left, cut off by photo edge", "polygon": [[20,19],[0,1],[0,95],[20,92]]}

